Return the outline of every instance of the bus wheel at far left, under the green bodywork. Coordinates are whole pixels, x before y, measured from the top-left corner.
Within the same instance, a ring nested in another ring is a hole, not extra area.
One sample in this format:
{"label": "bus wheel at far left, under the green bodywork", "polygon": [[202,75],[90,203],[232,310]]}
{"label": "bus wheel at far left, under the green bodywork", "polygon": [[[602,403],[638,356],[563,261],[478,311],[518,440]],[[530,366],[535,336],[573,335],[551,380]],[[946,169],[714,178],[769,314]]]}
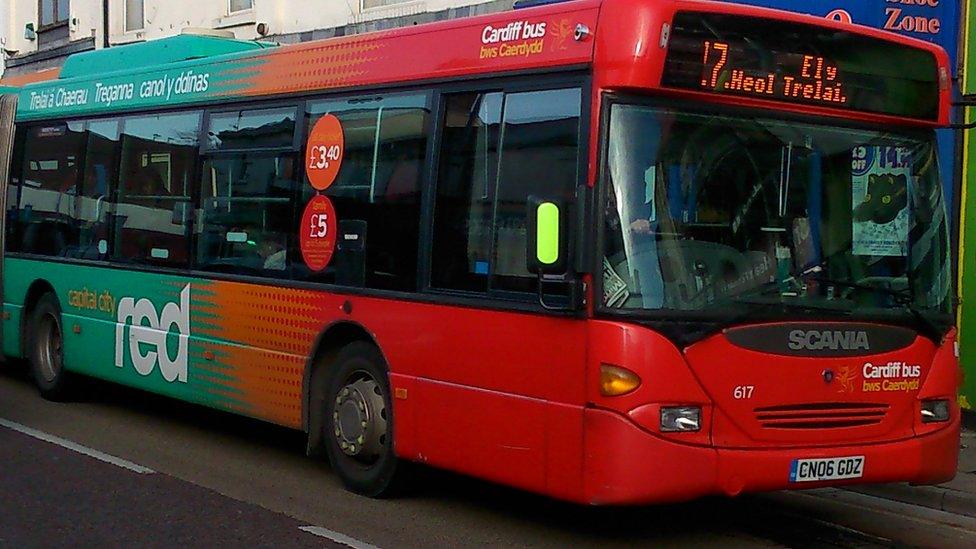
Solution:
{"label": "bus wheel at far left, under the green bodywork", "polygon": [[68,396],[71,374],[64,369],[64,331],[61,306],[54,294],[44,294],[30,317],[29,355],[31,373],[41,396],[63,400]]}

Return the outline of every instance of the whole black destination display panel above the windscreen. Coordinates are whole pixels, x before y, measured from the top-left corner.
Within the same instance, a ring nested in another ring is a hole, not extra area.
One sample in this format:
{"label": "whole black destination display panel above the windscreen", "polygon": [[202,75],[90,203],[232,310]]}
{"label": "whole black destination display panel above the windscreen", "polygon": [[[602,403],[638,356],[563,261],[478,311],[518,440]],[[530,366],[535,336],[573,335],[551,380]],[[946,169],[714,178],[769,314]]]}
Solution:
{"label": "whole black destination display panel above the windscreen", "polygon": [[930,52],[755,17],[677,14],[661,84],[927,120],[939,114]]}

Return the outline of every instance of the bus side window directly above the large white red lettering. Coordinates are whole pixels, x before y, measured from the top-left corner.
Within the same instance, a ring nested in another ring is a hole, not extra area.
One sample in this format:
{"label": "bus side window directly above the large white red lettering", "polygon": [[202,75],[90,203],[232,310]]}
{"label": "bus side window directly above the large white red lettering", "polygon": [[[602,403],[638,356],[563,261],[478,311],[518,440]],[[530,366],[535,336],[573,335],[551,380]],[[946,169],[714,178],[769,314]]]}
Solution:
{"label": "bus side window directly above the large white red lettering", "polygon": [[199,132],[199,112],[124,121],[114,216],[116,259],[187,264],[189,191]]}

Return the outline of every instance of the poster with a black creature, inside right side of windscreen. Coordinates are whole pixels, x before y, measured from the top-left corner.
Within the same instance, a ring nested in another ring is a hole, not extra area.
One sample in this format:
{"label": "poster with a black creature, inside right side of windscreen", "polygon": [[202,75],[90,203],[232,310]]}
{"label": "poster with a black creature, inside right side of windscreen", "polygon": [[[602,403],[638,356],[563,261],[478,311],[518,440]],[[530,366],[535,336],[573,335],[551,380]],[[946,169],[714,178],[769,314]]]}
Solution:
{"label": "poster with a black creature, inside right side of windscreen", "polygon": [[851,151],[854,255],[908,255],[911,151],[865,146]]}

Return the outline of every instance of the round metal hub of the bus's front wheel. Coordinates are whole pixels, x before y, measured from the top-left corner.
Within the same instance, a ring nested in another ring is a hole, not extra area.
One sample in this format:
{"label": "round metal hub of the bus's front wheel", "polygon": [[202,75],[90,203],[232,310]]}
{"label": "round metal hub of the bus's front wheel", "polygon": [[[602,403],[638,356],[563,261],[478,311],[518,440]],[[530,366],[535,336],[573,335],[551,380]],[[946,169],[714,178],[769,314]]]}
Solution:
{"label": "round metal hub of the bus's front wheel", "polygon": [[386,404],[380,386],[369,377],[339,390],[332,412],[333,435],[347,456],[371,461],[380,455],[386,438]]}

